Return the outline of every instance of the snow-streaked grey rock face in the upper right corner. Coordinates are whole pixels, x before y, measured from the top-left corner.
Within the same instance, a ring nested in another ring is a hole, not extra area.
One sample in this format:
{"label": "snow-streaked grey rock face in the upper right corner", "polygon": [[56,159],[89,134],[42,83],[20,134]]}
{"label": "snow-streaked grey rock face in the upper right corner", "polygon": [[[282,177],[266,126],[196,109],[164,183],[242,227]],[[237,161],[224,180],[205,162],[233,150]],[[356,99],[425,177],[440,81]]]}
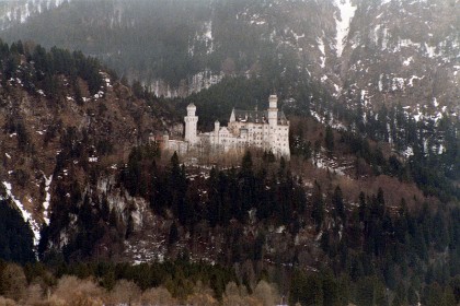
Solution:
{"label": "snow-streaked grey rock face in the upper right corner", "polygon": [[272,2],[242,15],[338,99],[458,111],[458,1]]}

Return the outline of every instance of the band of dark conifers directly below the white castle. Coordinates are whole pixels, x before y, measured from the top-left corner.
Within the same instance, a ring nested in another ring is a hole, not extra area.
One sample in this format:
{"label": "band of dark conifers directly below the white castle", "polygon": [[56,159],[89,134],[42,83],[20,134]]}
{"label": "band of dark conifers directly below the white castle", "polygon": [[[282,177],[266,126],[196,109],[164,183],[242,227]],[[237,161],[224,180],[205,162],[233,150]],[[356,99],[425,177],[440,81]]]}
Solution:
{"label": "band of dark conifers directly below the white castle", "polygon": [[274,217],[279,224],[286,224],[292,221],[292,212],[306,211],[300,181],[292,177],[283,158],[278,167],[274,165],[275,158],[265,154],[263,162],[267,168],[257,169],[246,152],[238,169],[214,167],[198,193],[177,154],[172,155],[166,167],[160,167],[156,162],[157,150],[151,145],[134,149],[120,174],[120,183],[131,196],[149,199],[157,213],[164,214],[165,209],[171,209],[183,225],[193,226],[202,220],[211,226],[227,226],[231,219],[245,222],[251,209],[256,209],[260,219]]}

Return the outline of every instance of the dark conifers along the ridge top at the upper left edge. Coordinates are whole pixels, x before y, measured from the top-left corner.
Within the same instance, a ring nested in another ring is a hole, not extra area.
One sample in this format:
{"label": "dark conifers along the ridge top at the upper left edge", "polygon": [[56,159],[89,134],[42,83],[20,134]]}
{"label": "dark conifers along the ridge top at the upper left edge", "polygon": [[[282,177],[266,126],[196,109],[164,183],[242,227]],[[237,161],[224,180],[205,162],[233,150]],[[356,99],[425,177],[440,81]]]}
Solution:
{"label": "dark conifers along the ridge top at the upper left edge", "polygon": [[11,46],[0,40],[1,84],[8,89],[11,83],[22,85],[28,93],[41,92],[55,101],[65,98],[65,87],[70,86],[72,96],[81,102],[82,93],[78,79],[88,83],[91,95],[103,89],[101,64],[81,51],[53,47],[49,51],[41,45],[23,44]]}

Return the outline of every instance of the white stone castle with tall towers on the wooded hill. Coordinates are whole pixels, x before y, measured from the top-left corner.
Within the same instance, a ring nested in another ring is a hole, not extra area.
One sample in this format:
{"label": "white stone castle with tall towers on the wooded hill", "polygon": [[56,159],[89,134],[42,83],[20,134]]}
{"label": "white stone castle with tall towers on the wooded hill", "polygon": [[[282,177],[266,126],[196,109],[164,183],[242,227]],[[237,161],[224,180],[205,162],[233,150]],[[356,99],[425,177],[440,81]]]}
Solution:
{"label": "white stone castle with tall towers on the wooded hill", "polygon": [[234,109],[230,115],[228,127],[215,122],[214,131],[197,132],[198,116],[196,106],[187,106],[184,140],[170,140],[163,137],[163,149],[187,153],[195,149],[207,148],[210,152],[241,152],[246,148],[260,148],[272,151],[277,156],[289,158],[289,121],[283,111],[278,110],[278,97],[271,95],[267,110]]}

